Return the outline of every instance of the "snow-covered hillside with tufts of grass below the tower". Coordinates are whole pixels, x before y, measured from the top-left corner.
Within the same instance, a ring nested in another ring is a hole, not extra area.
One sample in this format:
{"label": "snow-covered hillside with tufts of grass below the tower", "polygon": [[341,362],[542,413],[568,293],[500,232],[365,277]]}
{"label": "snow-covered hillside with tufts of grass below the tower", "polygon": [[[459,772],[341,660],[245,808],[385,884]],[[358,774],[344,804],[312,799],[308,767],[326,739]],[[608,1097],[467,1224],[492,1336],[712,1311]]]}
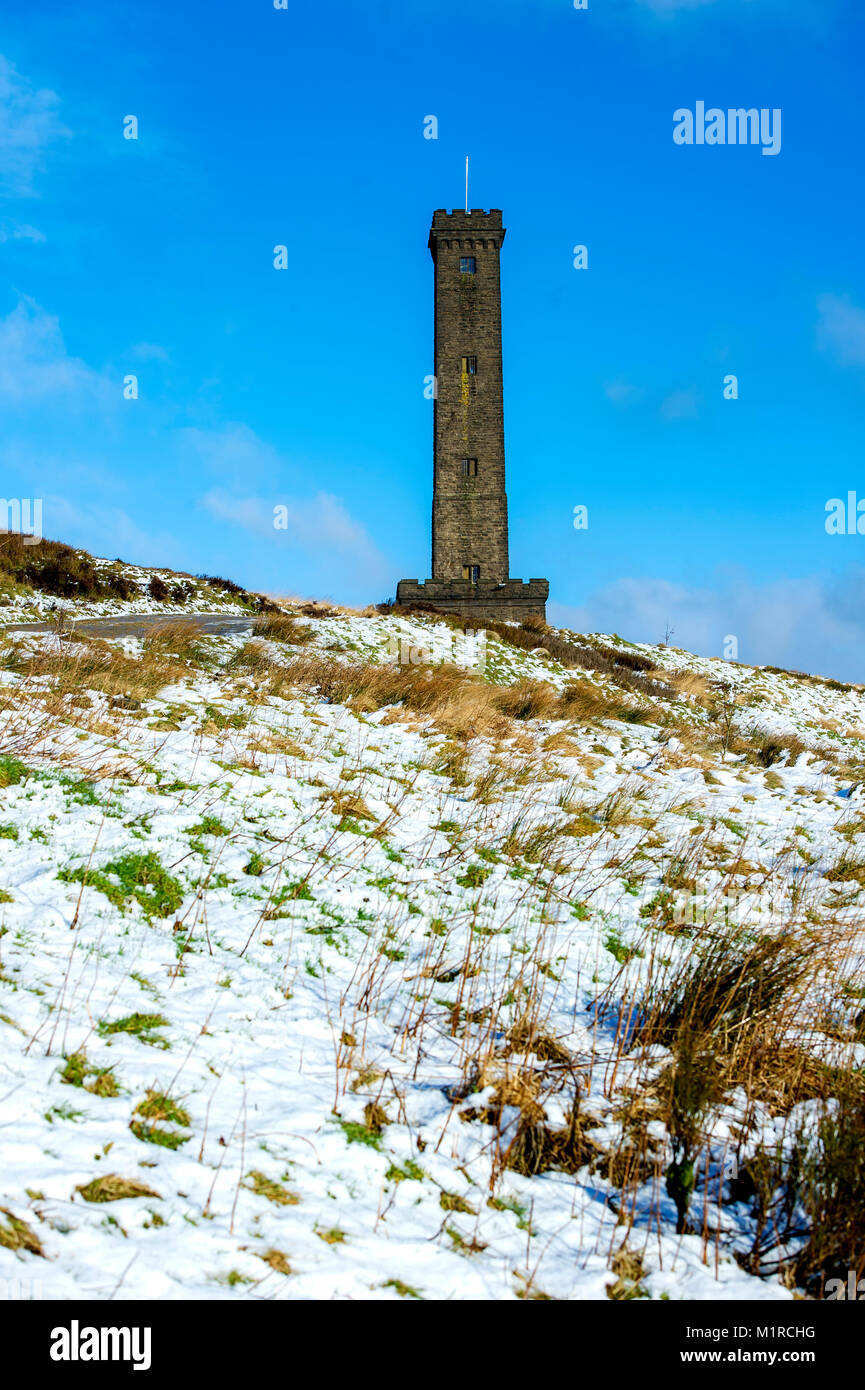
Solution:
{"label": "snow-covered hillside with tufts of grass below the tower", "polygon": [[[312,645],[261,651],[477,660],[428,617],[309,626]],[[790,1116],[752,1105],[743,1137],[743,1095],[716,1108],[694,1234],[676,1234],[659,1118],[651,1172],[623,1187],[605,1166],[629,1087],[651,1095],[668,1061],[623,1048],[617,1005],[658,955],[674,972],[694,949],[652,916],[694,834],[697,895],[729,899],[733,865],[768,930],[805,899],[811,922],[855,929],[857,885],[823,870],[859,842],[861,689],[602,638],[670,680],[733,685],[741,727],[801,737],[766,770],[722,756],[687,689],[674,733],[559,716],[464,738],[423,712],[264,694],[243,635],[207,638],[142,702],[85,678],[57,696],[21,664],[56,642],[8,638],[0,670],[0,1282],[46,1298],[793,1297],[734,1259],[752,1219],[722,1179]],[[609,688],[494,637],[481,674]],[[815,1055],[862,1065],[818,1023]],[[508,1166],[522,1116],[562,1133],[574,1097],[598,1161]],[[131,1195],[93,1200],[114,1179]],[[21,1223],[32,1238],[8,1237]]]}

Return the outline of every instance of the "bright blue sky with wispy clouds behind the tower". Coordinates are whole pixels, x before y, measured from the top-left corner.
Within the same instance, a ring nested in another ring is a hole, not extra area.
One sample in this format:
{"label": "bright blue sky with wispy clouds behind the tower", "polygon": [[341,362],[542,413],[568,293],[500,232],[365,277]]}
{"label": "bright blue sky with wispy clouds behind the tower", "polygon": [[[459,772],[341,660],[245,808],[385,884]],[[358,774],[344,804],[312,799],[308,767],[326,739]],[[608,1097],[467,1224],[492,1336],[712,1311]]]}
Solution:
{"label": "bright blue sky with wispy clouds behind the tower", "polygon": [[[7,15],[3,495],[275,594],[424,578],[426,242],[469,154],[508,227],[512,574],[552,620],[865,678],[865,537],[825,530],[865,498],[864,29],[854,0]],[[677,146],[700,100],[780,108],[780,153]]]}

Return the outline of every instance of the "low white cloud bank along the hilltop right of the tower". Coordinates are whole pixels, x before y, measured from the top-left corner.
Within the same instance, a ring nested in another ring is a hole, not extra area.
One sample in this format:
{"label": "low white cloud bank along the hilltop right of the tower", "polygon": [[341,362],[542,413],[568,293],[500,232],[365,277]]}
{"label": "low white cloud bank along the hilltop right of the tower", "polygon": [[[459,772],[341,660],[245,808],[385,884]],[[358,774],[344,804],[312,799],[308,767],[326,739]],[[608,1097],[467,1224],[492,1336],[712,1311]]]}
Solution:
{"label": "low white cloud bank along the hilltop right of the tower", "polygon": [[807,575],[755,584],[743,573],[719,574],[718,587],[658,578],[623,578],[579,607],[549,605],[551,620],[581,632],[622,632],[704,656],[722,656],[725,638],[738,641],[738,659],[789,666],[818,676],[865,676],[865,569],[843,575]]}

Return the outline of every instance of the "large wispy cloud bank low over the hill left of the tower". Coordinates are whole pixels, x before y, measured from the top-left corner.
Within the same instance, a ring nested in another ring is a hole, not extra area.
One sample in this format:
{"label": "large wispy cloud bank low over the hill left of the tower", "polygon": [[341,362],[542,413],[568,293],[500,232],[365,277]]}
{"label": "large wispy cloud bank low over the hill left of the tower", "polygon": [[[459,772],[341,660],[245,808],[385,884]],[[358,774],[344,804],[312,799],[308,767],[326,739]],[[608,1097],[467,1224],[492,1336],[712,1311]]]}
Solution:
{"label": "large wispy cloud bank low over the hill left of the tower", "polygon": [[[157,343],[129,349],[139,360],[164,360]],[[391,587],[389,566],[369,531],[343,500],[303,485],[314,477],[306,460],[286,460],[254,430],[239,421],[214,428],[178,428],[171,411],[152,407],[145,439],[157,450],[154,475],[165,475],[171,514],[195,507],[188,485],[204,493],[199,516],[202,537],[189,527],[182,541],[150,524],[154,516],[146,443],[134,424],[140,406],[122,403],[120,377],[92,368],[65,346],[57,317],[35,300],[21,297],[0,318],[0,466],[6,477],[45,499],[46,534],[72,539],[97,553],[127,552],[145,563],[184,567],[185,555],[202,563],[220,545],[242,563],[254,582],[284,582],[288,589],[369,594],[369,585]],[[118,450],[143,468],[138,477],[117,473]],[[178,488],[172,481],[178,481]],[[78,500],[70,500],[72,488]],[[29,495],[29,493],[28,493]],[[124,495],[122,505],[117,503]],[[93,498],[93,502],[82,500]],[[131,505],[131,499],[135,503]],[[274,525],[274,507],[282,507]],[[218,524],[218,525],[217,525]],[[220,539],[221,532],[221,539]],[[243,539],[245,538],[245,539]],[[267,545],[263,541],[267,539]],[[284,575],[284,581],[282,581]],[[252,581],[250,581],[252,582]]]}

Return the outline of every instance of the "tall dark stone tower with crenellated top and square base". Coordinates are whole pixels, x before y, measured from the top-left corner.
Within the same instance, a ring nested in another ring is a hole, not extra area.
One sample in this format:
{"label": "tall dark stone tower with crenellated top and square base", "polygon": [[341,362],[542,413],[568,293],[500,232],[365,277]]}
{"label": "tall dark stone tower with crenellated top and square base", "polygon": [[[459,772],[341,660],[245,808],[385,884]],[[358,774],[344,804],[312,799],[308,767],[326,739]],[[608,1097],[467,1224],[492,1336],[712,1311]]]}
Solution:
{"label": "tall dark stone tower with crenellated top and square base", "polygon": [[477,619],[545,616],[549,584],[508,571],[498,208],[432,214],[435,404],[432,578],[401,580],[396,603]]}

